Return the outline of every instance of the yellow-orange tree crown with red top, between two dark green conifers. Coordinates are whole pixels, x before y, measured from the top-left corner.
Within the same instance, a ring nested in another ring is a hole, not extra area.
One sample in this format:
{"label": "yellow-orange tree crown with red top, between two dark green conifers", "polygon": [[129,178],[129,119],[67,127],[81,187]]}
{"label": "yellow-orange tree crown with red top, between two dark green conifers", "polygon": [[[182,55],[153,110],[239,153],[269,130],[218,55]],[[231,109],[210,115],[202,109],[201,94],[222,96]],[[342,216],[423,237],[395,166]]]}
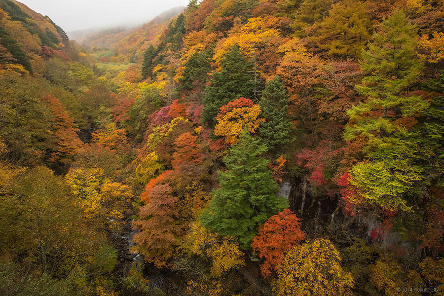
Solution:
{"label": "yellow-orange tree crown with red top, between two dark green conifers", "polygon": [[226,143],[233,145],[245,127],[248,126],[248,130],[254,133],[260,122],[265,121],[265,119],[259,118],[259,114],[260,106],[253,104],[250,99],[239,98],[229,102],[221,107],[214,134],[225,137]]}

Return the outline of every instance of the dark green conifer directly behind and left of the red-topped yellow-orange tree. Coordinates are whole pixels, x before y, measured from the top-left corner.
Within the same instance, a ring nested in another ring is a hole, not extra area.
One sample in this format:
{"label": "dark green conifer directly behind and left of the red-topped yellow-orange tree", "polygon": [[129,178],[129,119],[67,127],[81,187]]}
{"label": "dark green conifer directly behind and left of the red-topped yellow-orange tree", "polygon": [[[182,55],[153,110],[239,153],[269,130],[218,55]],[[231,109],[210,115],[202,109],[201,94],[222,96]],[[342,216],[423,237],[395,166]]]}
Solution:
{"label": "dark green conifer directly behind and left of the red-topped yellow-orange tree", "polygon": [[216,115],[226,103],[240,97],[254,97],[252,65],[247,62],[237,45],[222,59],[221,72],[214,72],[211,85],[205,89],[202,121],[208,127],[216,125]]}

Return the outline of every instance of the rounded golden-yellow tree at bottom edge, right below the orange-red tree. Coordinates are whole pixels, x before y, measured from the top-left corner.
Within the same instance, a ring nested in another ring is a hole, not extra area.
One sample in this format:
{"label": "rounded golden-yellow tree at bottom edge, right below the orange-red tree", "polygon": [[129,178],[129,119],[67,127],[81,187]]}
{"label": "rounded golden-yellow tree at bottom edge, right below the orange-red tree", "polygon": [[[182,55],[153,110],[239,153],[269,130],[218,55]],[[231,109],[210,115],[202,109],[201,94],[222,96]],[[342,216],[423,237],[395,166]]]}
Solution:
{"label": "rounded golden-yellow tree at bottom edge, right below the orange-red tree", "polygon": [[277,267],[276,296],[351,296],[353,278],[342,269],[341,257],[328,239],[295,246]]}

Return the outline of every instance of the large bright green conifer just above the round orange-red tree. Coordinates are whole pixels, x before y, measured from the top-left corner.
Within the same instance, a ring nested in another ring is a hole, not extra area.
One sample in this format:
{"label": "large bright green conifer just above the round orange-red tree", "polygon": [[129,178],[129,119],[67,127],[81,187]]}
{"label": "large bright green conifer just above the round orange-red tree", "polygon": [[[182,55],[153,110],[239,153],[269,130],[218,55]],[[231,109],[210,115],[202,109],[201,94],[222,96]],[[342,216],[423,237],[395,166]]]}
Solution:
{"label": "large bright green conifer just above the round orange-red tree", "polygon": [[221,236],[232,236],[243,250],[250,248],[258,227],[286,207],[276,197],[277,184],[268,170],[266,151],[248,131],[225,155],[227,170],[218,172],[221,187],[212,193],[210,208],[200,216],[202,224]]}

